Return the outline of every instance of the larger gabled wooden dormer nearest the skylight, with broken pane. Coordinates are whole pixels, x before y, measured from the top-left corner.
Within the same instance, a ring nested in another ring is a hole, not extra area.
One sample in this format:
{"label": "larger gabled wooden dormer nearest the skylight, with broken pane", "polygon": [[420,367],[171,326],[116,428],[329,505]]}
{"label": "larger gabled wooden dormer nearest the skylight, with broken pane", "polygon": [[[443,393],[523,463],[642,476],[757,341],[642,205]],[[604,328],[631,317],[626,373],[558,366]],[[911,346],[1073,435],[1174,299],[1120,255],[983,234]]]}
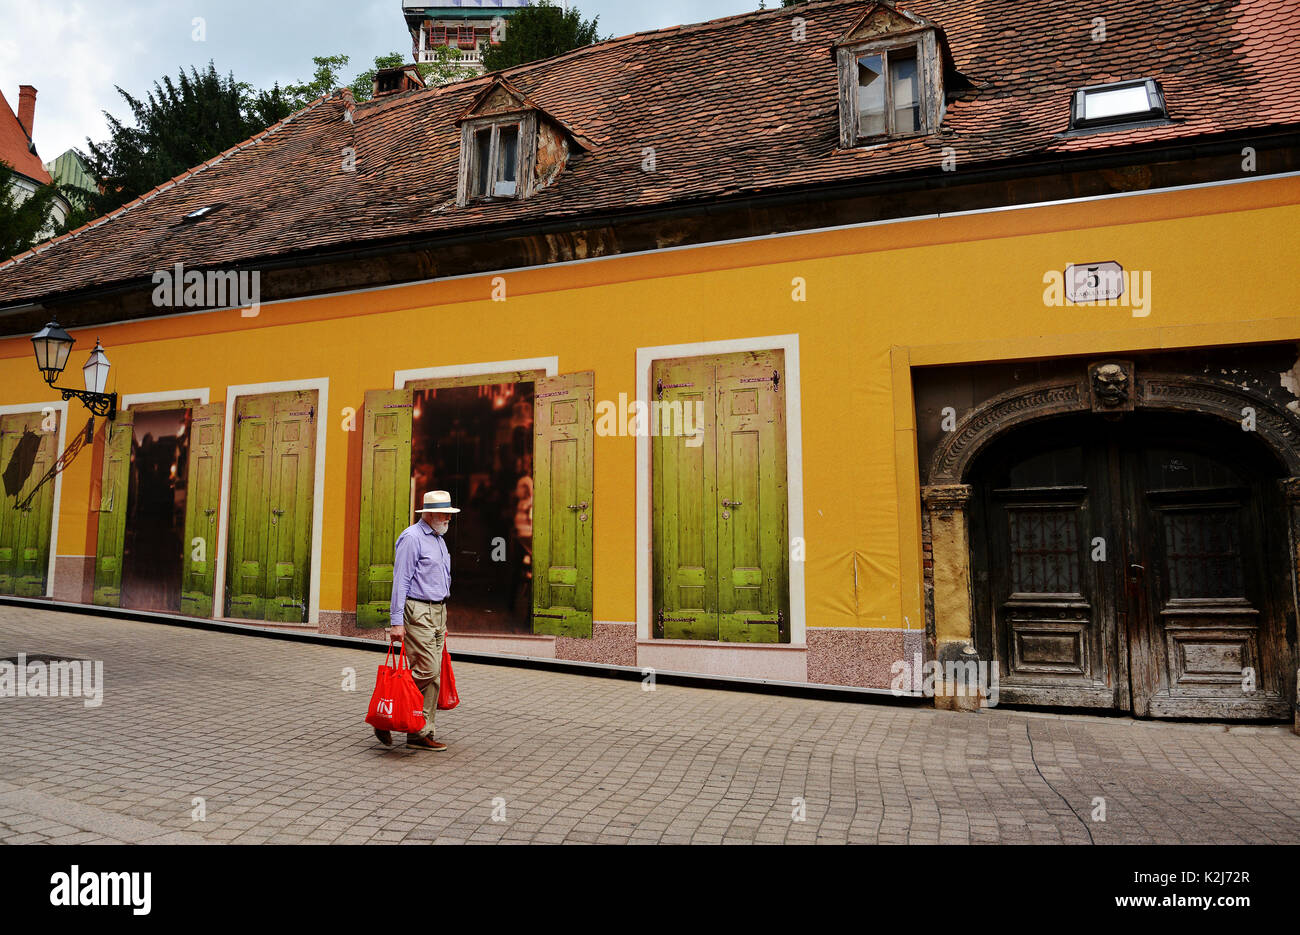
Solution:
{"label": "larger gabled wooden dormer nearest the skylight, with broken pane", "polygon": [[944,116],[937,27],[885,4],[835,44],[840,68],[840,148],[933,133]]}

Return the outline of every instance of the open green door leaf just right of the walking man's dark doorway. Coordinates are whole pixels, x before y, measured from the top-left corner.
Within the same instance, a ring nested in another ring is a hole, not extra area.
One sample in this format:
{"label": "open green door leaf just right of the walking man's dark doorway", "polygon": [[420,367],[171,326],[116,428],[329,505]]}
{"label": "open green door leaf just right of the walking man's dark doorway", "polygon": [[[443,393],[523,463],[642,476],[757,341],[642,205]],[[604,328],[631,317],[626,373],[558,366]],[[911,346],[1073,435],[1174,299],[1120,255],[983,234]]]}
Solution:
{"label": "open green door leaf just right of the walking man's dark doorway", "polygon": [[542,377],[533,397],[533,632],[592,636],[595,375]]}

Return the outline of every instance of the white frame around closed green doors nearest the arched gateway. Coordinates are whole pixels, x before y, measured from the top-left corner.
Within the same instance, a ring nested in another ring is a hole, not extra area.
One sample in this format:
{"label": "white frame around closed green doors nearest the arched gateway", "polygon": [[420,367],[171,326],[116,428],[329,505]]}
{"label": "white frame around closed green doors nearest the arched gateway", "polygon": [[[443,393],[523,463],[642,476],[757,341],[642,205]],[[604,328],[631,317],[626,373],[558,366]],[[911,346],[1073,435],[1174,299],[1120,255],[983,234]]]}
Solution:
{"label": "white frame around closed green doors nearest the arched gateway", "polygon": [[[785,482],[786,524],[789,538],[803,537],[803,420],[800,415],[800,336],[776,334],[768,338],[703,341],[692,345],[660,345],[637,349],[637,398],[653,399],[650,368],[655,360],[675,358],[708,358],[740,351],[785,352]],[[637,639],[651,639],[654,616],[654,518],[650,514],[653,493],[650,436],[637,436]],[[786,545],[786,547],[789,547]],[[803,607],[803,562],[786,555],[790,575],[790,644],[802,646],[807,640]],[[732,644],[725,644],[732,645]],[[738,644],[737,644],[738,645]]]}

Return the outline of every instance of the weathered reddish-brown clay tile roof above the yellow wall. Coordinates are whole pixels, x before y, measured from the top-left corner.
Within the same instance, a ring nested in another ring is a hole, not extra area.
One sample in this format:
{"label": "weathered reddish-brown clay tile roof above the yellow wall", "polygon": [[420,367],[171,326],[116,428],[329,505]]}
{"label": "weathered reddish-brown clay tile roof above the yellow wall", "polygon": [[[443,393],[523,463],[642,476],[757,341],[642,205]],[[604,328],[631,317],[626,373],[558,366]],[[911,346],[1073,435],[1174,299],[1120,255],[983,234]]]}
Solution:
{"label": "weathered reddish-brown clay tile roof above the yellow wall", "polygon": [[[941,30],[972,87],[926,138],[836,152],[832,46],[870,0],[826,0],[638,33],[503,77],[590,147],[523,202],[456,207],[456,121],[497,79],[358,104],[339,96],[9,263],[0,304],[343,244],[647,209],[890,174],[1300,122],[1295,0],[901,0]],[[1084,10],[1084,12],[1080,12]],[[792,17],[806,39],[792,42]],[[1095,17],[1106,38],[1092,40]],[[1061,137],[1075,88],[1161,82],[1171,124]],[[343,148],[356,170],[343,170]],[[655,172],[642,172],[654,148]],[[211,218],[182,225],[207,204]]]}

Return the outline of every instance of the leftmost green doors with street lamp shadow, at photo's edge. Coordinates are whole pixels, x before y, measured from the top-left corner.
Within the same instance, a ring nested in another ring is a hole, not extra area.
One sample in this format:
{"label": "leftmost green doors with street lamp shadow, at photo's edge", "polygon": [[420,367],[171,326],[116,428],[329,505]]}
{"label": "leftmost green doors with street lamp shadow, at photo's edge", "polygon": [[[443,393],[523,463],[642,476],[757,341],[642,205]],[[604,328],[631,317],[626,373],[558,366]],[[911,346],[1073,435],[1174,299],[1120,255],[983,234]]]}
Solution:
{"label": "leftmost green doors with street lamp shadow, at photo's edge", "polygon": [[[36,489],[58,458],[57,410],[0,416],[0,594],[43,597],[48,585],[55,482]],[[20,505],[36,490],[31,502]]]}

